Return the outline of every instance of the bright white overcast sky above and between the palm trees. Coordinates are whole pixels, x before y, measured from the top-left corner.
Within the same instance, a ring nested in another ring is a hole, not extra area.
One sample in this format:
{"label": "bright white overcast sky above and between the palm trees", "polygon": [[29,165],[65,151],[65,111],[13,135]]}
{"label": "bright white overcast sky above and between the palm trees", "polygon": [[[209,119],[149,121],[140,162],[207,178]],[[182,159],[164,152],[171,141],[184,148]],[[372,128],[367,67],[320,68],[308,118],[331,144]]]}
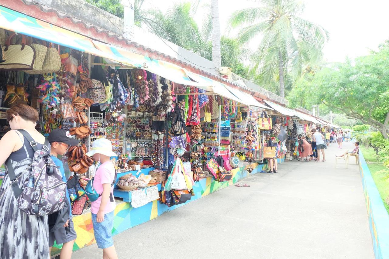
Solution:
{"label": "bright white overcast sky above and between the palm trees", "polygon": [[[174,2],[196,2],[195,0],[151,0],[151,4],[163,11]],[[202,0],[195,19],[201,24]],[[302,17],[322,25],[330,33],[330,40],[324,48],[326,61],[344,61],[346,56],[355,58],[377,49],[378,44],[389,39],[389,0],[305,0]],[[235,10],[258,4],[252,0],[219,0],[222,35],[234,36],[236,31],[226,30],[227,21]],[[145,4],[148,9],[150,2]],[[257,39],[258,41],[259,39]],[[251,42],[254,48],[256,42]]]}

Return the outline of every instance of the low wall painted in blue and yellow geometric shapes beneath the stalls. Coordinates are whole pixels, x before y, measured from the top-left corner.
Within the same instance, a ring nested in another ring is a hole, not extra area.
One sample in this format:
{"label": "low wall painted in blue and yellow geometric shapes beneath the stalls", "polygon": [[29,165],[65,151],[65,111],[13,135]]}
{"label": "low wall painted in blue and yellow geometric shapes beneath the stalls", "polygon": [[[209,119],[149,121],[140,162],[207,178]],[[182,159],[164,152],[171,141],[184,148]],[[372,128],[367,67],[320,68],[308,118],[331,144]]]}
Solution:
{"label": "low wall painted in blue and yellow geometric shapes beneath the stalls", "polygon": [[[279,163],[282,161],[284,161],[284,158],[278,159]],[[265,169],[265,165],[259,165],[258,163],[252,163],[251,165],[254,168],[251,174],[259,173]],[[233,185],[239,180],[245,179],[250,175],[250,173],[248,173],[246,170],[247,167],[248,166],[234,169],[232,171],[233,178],[228,182],[217,182],[213,180],[212,177],[200,179],[200,181],[195,182],[195,185],[193,186],[193,191],[196,195],[192,196],[191,200],[184,204],[167,207],[165,204],[160,204],[159,200],[155,200],[147,203],[142,207],[133,208],[131,207],[131,203],[118,203],[115,209],[114,228],[112,229],[112,235],[117,235],[139,224],[151,221],[152,219],[155,219],[159,215],[162,215],[170,210],[184,206],[191,201],[198,200],[210,193],[214,193],[227,186]],[[95,243],[91,212],[82,214],[80,216],[75,216],[73,218],[73,222],[75,231],[77,233],[77,239],[73,248],[74,251]],[[58,249],[60,247],[60,245],[54,245],[52,254],[58,253]]]}

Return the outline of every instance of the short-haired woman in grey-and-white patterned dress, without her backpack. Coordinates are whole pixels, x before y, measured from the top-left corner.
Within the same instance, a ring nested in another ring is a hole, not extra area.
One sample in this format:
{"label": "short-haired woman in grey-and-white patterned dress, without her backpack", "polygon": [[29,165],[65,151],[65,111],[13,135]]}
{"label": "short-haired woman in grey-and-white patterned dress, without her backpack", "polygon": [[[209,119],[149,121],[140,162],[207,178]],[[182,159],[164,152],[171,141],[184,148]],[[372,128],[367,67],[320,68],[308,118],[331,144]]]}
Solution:
{"label": "short-haired woman in grey-and-white patterned dress, without her backpack", "polygon": [[[0,165],[7,165],[9,160],[16,176],[13,181],[19,188],[22,187],[32,168],[32,158],[36,145],[38,150],[49,147],[45,137],[36,129],[38,112],[25,104],[12,106],[6,112],[7,122],[11,131],[5,133],[0,140]],[[25,135],[34,141],[29,142]],[[9,168],[5,173],[0,189],[0,258],[50,258],[49,229],[46,216],[27,215],[19,209],[11,185]]]}

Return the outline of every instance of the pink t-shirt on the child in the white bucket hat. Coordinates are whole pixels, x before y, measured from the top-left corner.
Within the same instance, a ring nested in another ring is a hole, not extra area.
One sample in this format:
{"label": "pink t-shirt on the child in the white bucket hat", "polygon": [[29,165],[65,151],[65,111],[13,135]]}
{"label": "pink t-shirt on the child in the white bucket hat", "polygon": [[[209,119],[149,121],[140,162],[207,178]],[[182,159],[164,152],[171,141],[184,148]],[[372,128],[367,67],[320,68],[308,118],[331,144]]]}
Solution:
{"label": "pink t-shirt on the child in the white bucket hat", "polygon": [[[95,179],[93,180],[93,188],[95,188],[97,193],[103,193],[103,184],[112,184],[112,181],[115,177],[115,167],[108,161],[102,163],[98,170],[96,171]],[[114,195],[114,186],[111,188],[112,196]],[[97,214],[100,209],[102,196],[100,196],[96,201],[93,201],[91,204],[91,210],[93,214]],[[104,214],[112,212],[116,208],[116,202],[110,202],[108,200],[107,206],[105,207]]]}

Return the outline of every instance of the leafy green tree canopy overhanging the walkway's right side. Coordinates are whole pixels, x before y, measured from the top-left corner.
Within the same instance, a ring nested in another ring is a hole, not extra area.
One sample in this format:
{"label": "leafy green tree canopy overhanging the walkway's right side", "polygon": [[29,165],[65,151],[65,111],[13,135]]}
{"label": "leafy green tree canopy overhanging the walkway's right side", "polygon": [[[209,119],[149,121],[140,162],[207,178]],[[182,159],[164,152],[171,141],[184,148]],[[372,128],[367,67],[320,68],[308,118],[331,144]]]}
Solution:
{"label": "leafy green tree canopy overhanging the walkway's right side", "polygon": [[[378,52],[335,63],[298,81],[292,103],[323,103],[338,113],[369,124],[389,137],[389,42]],[[301,100],[299,100],[301,99]]]}

